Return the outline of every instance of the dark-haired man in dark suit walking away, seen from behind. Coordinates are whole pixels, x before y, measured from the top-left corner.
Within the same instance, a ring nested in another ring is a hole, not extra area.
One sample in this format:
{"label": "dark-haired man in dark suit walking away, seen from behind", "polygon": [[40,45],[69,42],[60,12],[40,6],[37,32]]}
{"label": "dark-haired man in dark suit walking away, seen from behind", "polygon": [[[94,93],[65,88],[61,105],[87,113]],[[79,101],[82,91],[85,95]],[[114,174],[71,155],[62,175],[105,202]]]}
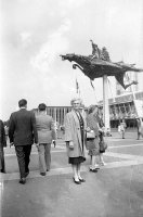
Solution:
{"label": "dark-haired man in dark suit walking away, seen from behind", "polygon": [[32,112],[27,111],[27,101],[18,101],[20,111],[11,114],[9,138],[11,145],[14,143],[20,167],[20,183],[26,183],[29,174],[29,156],[31,145],[38,143],[36,118]]}

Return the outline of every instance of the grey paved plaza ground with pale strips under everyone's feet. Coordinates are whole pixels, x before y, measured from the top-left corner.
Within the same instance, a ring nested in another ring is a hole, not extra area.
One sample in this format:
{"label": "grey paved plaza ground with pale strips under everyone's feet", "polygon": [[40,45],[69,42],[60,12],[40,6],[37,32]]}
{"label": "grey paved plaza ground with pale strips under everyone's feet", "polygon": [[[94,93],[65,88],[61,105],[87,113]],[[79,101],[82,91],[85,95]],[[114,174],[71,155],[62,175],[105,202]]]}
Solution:
{"label": "grey paved plaza ground with pale strips under everyone's feet", "polygon": [[142,217],[143,139],[128,130],[126,139],[113,131],[104,154],[106,166],[89,171],[89,156],[82,165],[84,183],[75,184],[67,163],[65,143],[52,148],[51,170],[41,177],[35,145],[26,184],[18,183],[14,148],[6,148],[6,174],[1,174],[1,217]]}

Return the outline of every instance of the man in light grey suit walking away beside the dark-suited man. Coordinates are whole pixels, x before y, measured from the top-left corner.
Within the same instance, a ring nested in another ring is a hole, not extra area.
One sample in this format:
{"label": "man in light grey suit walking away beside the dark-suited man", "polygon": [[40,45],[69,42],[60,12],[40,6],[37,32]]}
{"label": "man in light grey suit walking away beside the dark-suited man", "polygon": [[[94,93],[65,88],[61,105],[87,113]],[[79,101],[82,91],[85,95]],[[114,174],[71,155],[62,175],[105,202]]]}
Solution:
{"label": "man in light grey suit walking away beside the dark-suited man", "polygon": [[44,103],[38,106],[39,114],[36,115],[36,126],[38,131],[38,152],[40,175],[46,176],[51,166],[51,143],[55,141],[56,132],[52,116],[47,115]]}

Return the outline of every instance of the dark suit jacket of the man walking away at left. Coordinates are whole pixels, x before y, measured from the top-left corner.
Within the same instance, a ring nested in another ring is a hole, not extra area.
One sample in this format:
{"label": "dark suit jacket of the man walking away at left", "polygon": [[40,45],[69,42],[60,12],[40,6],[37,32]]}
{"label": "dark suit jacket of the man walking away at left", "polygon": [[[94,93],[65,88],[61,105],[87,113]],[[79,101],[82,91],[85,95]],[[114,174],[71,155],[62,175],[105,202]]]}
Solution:
{"label": "dark suit jacket of the man walking away at left", "polygon": [[10,142],[14,142],[15,146],[37,143],[38,135],[35,114],[25,108],[12,113],[10,117],[9,138]]}

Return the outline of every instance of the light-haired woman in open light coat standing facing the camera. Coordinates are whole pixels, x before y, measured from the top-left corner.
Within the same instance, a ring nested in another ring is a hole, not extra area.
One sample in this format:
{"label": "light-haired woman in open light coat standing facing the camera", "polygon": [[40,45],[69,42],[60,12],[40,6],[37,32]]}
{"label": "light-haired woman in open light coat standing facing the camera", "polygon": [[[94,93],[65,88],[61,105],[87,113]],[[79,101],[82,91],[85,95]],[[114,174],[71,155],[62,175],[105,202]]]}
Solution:
{"label": "light-haired woman in open light coat standing facing the camera", "polygon": [[74,182],[80,184],[84,182],[80,175],[81,163],[84,157],[86,120],[80,112],[81,100],[73,99],[70,102],[73,110],[65,116],[65,142],[67,148],[68,163],[72,164]]}

